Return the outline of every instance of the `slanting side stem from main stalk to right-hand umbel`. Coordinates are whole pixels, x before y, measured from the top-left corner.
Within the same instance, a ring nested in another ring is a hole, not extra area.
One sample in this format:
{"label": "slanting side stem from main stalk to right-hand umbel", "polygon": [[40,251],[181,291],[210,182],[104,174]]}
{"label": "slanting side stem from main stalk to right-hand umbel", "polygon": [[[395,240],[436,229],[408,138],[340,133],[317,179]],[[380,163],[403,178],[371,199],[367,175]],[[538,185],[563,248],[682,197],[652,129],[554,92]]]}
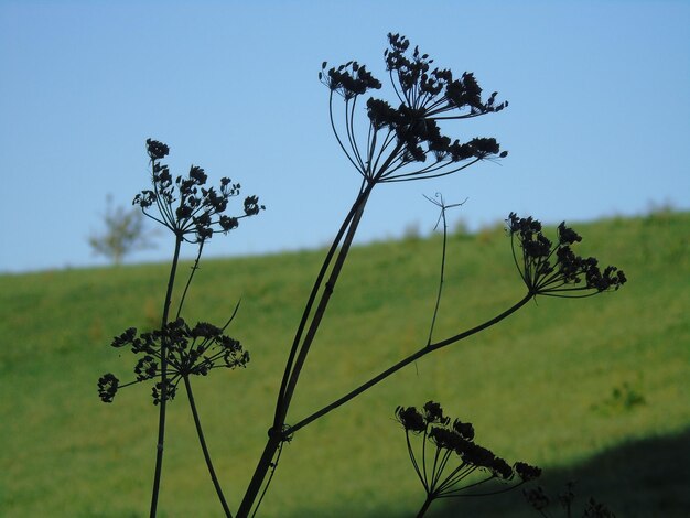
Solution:
{"label": "slanting side stem from main stalk to right-hand umbel", "polygon": [[306,427],[309,423],[311,423],[312,421],[315,421],[316,419],[325,416],[326,413],[331,412],[332,410],[335,410],[336,408],[338,408],[341,404],[346,403],[347,401],[349,401],[351,399],[356,398],[357,396],[359,396],[362,392],[364,392],[365,390],[370,389],[371,387],[374,387],[375,385],[377,385],[378,382],[382,381],[384,379],[386,379],[387,377],[389,377],[390,375],[397,373],[398,370],[400,370],[402,367],[411,364],[412,361],[418,360],[419,358],[421,358],[422,356],[428,355],[429,353],[432,353],[434,350],[438,350],[442,347],[445,347],[446,345],[450,344],[454,344],[455,342],[460,342],[461,339],[464,339],[468,336],[472,336],[473,334],[478,333],[479,331],[484,331],[487,327],[490,327],[494,324],[497,324],[498,322],[500,322],[502,320],[504,320],[506,316],[511,315],[513,313],[515,313],[517,310],[519,310],[520,307],[522,307],[525,304],[527,304],[527,302],[529,302],[532,299],[532,294],[528,293],[527,295],[525,295],[519,302],[517,302],[516,304],[514,304],[513,306],[510,306],[509,309],[507,309],[506,311],[504,311],[503,313],[500,313],[497,316],[494,316],[492,320],[488,320],[486,322],[484,322],[483,324],[477,325],[476,327],[473,327],[471,330],[467,330],[463,333],[460,333],[457,335],[451,336],[450,338],[446,338],[444,341],[441,342],[436,342],[435,344],[430,344],[425,347],[422,347],[421,349],[419,349],[417,353],[411,354],[410,356],[408,356],[407,358],[401,359],[400,361],[398,361],[396,365],[387,368],[386,370],[384,370],[381,374],[379,374],[378,376],[375,376],[374,378],[371,378],[370,380],[368,380],[367,382],[360,385],[359,387],[357,387],[356,389],[352,390],[351,392],[346,393],[345,396],[343,396],[342,398],[333,401],[331,404],[327,404],[326,407],[322,408],[321,410],[312,413],[311,416],[309,416],[308,418],[303,419],[302,421],[298,422],[297,424],[290,427],[285,433],[288,434],[292,434],[294,432],[297,432],[298,430],[300,430],[301,428]]}

